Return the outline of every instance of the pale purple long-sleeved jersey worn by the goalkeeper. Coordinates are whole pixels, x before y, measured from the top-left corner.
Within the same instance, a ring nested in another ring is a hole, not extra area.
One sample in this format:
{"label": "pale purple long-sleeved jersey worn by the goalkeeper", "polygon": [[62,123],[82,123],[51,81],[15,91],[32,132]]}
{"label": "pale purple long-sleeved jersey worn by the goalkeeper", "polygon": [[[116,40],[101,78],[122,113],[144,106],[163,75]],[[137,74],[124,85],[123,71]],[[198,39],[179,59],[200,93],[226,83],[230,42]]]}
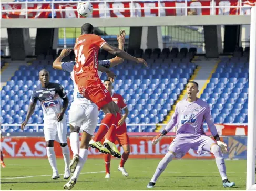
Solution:
{"label": "pale purple long-sleeved jersey worn by the goalkeeper", "polygon": [[194,102],[182,100],[177,103],[172,119],[165,130],[169,132],[177,125],[176,135],[196,136],[205,134],[203,131],[204,120],[206,120],[212,135],[217,135],[209,105],[199,98]]}

